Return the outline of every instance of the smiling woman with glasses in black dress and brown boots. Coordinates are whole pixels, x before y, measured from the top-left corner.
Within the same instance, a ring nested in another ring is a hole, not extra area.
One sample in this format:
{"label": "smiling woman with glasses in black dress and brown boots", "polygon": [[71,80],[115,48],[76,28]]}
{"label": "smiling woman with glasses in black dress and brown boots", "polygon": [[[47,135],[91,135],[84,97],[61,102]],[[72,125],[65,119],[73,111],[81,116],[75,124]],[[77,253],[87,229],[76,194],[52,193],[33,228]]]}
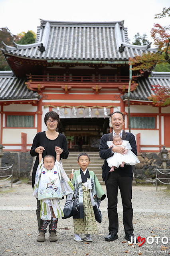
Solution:
{"label": "smiling woman with glasses in black dress and brown boots", "polygon": [[[59,125],[59,115],[55,111],[47,112],[44,117],[45,125],[47,126],[47,131],[44,132],[38,132],[36,134],[33,144],[30,150],[31,156],[37,156],[36,162],[33,167],[32,172],[32,186],[34,187],[35,178],[36,178],[36,170],[39,164],[38,154],[42,153],[42,157],[46,155],[52,155],[56,158],[56,153],[60,154],[60,159],[66,159],[69,155],[68,151],[68,145],[67,145],[67,139],[64,134],[61,134],[59,132],[56,132],[56,128]],[[55,148],[55,146],[57,146]],[[42,147],[45,150],[42,150]],[[44,242],[45,241],[45,233],[42,232],[42,220],[40,219],[40,201],[37,199],[37,220],[38,220],[38,231],[39,235],[37,237],[38,242]],[[57,241],[57,235],[56,231],[51,231],[49,228],[49,241],[55,242]]]}

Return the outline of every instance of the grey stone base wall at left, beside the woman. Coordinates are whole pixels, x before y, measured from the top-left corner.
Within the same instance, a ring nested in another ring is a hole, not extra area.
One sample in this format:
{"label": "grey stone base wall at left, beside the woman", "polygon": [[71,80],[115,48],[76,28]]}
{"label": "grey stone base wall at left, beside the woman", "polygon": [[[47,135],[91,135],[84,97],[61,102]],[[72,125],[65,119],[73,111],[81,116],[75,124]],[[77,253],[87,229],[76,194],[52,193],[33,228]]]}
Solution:
{"label": "grey stone base wall at left, beside the woman", "polygon": [[[19,176],[20,178],[29,178],[33,161],[30,152],[3,152],[3,154],[2,166],[10,166],[13,164],[14,178],[18,178]],[[18,163],[18,154],[20,166]],[[18,167],[20,167],[20,171]]]}

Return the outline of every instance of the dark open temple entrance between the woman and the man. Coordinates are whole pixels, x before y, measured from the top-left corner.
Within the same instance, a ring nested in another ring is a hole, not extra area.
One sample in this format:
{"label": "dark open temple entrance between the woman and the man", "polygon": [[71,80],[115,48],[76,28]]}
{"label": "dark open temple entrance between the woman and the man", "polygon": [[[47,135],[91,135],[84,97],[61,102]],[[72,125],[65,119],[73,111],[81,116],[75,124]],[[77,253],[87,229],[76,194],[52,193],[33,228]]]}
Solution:
{"label": "dark open temple entrance between the woman and the man", "polygon": [[65,134],[69,151],[99,151],[101,136],[110,132],[109,118],[62,118],[59,132]]}

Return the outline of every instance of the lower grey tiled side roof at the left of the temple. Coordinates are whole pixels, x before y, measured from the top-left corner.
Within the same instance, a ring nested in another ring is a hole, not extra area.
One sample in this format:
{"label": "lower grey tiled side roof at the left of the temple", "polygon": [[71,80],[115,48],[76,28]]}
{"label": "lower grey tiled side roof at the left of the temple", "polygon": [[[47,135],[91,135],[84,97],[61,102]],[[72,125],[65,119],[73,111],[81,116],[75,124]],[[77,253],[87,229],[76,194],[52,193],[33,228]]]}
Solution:
{"label": "lower grey tiled side roof at the left of the temple", "polygon": [[25,78],[14,76],[12,71],[0,71],[0,100],[38,100],[40,95],[29,90]]}

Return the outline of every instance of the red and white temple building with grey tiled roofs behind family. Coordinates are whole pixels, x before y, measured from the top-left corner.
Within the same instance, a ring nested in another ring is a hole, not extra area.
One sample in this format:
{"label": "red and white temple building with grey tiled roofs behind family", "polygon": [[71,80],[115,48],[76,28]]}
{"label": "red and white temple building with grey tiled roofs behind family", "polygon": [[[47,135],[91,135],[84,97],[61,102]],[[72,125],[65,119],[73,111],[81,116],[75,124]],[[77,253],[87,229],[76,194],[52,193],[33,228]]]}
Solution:
{"label": "red and white temple building with grey tiled roofs behind family", "polygon": [[[170,149],[170,106],[154,107],[152,86],[170,87],[170,72],[131,76],[128,58],[157,48],[129,43],[124,21],[56,22],[41,20],[34,44],[1,49],[12,71],[0,71],[0,144],[4,150],[30,150],[37,132],[46,129],[44,115],[60,116],[59,132],[69,150],[98,151],[104,133],[111,131],[113,111],[125,114],[138,152]],[[129,82],[130,81],[130,82]]]}

